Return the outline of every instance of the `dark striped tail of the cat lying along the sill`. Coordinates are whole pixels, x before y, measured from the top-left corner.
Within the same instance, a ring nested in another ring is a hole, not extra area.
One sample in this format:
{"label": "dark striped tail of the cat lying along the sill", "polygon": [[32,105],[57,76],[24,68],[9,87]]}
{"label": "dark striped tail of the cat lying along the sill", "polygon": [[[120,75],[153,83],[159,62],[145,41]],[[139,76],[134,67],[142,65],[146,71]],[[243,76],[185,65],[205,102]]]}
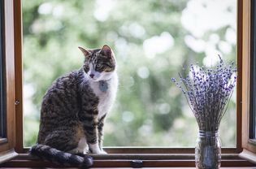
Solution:
{"label": "dark striped tail of the cat lying along the sill", "polygon": [[81,157],[76,154],[69,154],[56,150],[49,145],[36,144],[33,145],[29,151],[30,154],[36,155],[39,158],[64,166],[91,167],[93,165],[93,158],[89,155],[85,154],[84,157]]}

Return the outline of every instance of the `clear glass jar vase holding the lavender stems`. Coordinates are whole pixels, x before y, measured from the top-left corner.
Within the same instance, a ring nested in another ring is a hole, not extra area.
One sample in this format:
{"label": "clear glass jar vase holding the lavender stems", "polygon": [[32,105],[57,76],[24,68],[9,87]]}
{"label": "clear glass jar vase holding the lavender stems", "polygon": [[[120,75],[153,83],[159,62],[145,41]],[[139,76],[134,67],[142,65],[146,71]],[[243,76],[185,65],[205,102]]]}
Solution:
{"label": "clear glass jar vase holding the lavender stems", "polygon": [[198,169],[217,169],[221,163],[219,131],[199,131],[195,148],[195,163]]}

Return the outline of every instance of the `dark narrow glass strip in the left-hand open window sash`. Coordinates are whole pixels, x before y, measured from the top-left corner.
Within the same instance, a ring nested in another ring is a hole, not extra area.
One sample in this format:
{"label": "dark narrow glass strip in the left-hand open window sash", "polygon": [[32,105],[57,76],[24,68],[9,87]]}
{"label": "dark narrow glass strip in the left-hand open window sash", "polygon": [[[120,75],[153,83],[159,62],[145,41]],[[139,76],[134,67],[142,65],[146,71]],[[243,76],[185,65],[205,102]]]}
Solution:
{"label": "dark narrow glass strip in the left-hand open window sash", "polygon": [[4,56],[3,56],[3,2],[0,2],[0,137],[6,137],[4,99]]}

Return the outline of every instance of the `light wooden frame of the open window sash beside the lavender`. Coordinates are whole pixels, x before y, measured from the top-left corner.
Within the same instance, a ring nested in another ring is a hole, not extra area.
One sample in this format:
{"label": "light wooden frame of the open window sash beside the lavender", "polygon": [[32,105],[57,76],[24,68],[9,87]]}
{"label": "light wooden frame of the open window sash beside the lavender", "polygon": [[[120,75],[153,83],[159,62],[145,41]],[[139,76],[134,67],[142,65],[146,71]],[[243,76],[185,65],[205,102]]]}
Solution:
{"label": "light wooden frame of the open window sash beside the lavender", "polygon": [[[255,141],[252,141],[250,139],[250,125],[251,124],[251,116],[250,109],[252,109],[252,106],[250,106],[250,97],[253,93],[250,92],[250,75],[251,75],[251,64],[250,64],[250,58],[251,58],[251,42],[253,39],[252,33],[251,33],[251,1],[246,0],[244,2],[243,6],[243,27],[242,27],[242,62],[243,62],[243,81],[242,81],[242,152],[240,154],[241,158],[245,158],[249,160],[252,163],[256,163],[256,145]],[[255,51],[254,51],[255,52]]]}

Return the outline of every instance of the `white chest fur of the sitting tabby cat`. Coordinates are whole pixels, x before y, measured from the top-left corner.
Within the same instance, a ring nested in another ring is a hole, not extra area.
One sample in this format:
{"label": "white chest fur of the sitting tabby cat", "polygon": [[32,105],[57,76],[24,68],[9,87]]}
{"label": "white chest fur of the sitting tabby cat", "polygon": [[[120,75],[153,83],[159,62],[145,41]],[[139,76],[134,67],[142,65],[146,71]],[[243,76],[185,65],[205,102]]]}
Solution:
{"label": "white chest fur of the sitting tabby cat", "polygon": [[106,80],[107,89],[106,91],[102,91],[99,88],[98,81],[89,81],[89,85],[91,89],[93,89],[93,93],[99,98],[98,103],[98,119],[102,118],[103,115],[106,115],[107,112],[110,111],[113,102],[115,101],[118,78],[116,73],[112,76],[111,80]]}

